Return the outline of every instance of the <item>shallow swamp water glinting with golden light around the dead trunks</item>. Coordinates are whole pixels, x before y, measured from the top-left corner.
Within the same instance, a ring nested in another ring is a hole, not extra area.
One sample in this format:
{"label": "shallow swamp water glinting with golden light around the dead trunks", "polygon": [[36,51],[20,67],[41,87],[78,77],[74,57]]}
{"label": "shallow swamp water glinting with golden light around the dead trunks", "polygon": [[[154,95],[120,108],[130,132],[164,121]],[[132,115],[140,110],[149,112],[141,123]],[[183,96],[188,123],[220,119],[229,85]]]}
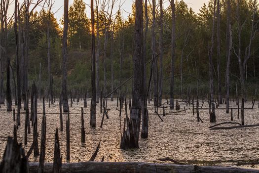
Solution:
{"label": "shallow swamp water glinting with golden light around the dead trunks", "polygon": [[[69,100],[70,101],[70,100]],[[165,100],[163,100],[165,102]],[[70,103],[70,102],[69,102]],[[241,104],[241,103],[240,103]],[[90,128],[90,101],[88,107],[84,108],[84,128],[85,143],[81,143],[81,107],[83,101],[78,105],[70,107],[70,162],[85,162],[94,153],[99,140],[101,140],[100,150],[95,161],[101,161],[104,156],[105,162],[150,162],[161,163],[158,159],[169,157],[186,164],[197,164],[206,166],[238,166],[243,168],[259,169],[259,127],[232,129],[232,130],[209,130],[209,110],[200,110],[200,118],[204,123],[198,123],[196,113],[192,115],[192,106],[185,104],[186,113],[179,112],[162,116],[162,109],[158,112],[163,122],[154,114],[153,102],[148,104],[149,127],[148,139],[139,140],[139,149],[120,150],[120,122],[119,111],[116,110],[116,99],[108,101],[109,119],[105,117],[103,128],[100,128],[102,113],[100,104],[97,104],[96,128]],[[199,104],[202,105],[202,102]],[[168,106],[165,104],[165,106]],[[46,102],[46,162],[53,162],[54,135],[55,129],[60,129],[59,105],[54,103],[48,108]],[[196,105],[195,105],[196,107]],[[230,102],[230,107],[237,107],[235,102]],[[252,102],[245,103],[246,108],[252,107]],[[189,109],[190,108],[190,109]],[[205,102],[203,108],[208,108]],[[221,105],[225,108],[225,104]],[[257,103],[253,110],[245,110],[245,125],[259,124],[259,109]],[[118,108],[117,108],[118,109]],[[124,106],[123,109],[124,110]],[[181,104],[181,110],[184,105]],[[15,107],[17,113],[17,108]],[[21,110],[21,112],[25,112]],[[165,108],[165,112],[175,112]],[[230,112],[230,110],[229,110]],[[38,143],[40,147],[40,131],[42,119],[42,102],[38,100]],[[129,113],[129,110],[128,110]],[[122,112],[121,125],[123,129],[125,111]],[[63,114],[63,131],[59,130],[60,148],[62,162],[66,162],[66,118]],[[233,122],[241,123],[237,119],[237,110],[233,110]],[[24,119],[25,114],[21,114],[21,126],[17,130],[18,142],[24,142]],[[225,110],[216,110],[217,123],[230,122],[230,113]],[[0,108],[0,160],[6,146],[8,136],[13,136],[13,113],[6,112],[6,106]],[[226,125],[231,126],[231,125]],[[32,128],[31,131],[33,132]],[[28,145],[23,146],[25,153],[28,152],[33,141],[33,134],[28,134]],[[39,158],[34,158],[31,154],[29,161],[38,162]],[[163,162],[164,163],[164,162]],[[170,163],[170,162],[168,162]]]}

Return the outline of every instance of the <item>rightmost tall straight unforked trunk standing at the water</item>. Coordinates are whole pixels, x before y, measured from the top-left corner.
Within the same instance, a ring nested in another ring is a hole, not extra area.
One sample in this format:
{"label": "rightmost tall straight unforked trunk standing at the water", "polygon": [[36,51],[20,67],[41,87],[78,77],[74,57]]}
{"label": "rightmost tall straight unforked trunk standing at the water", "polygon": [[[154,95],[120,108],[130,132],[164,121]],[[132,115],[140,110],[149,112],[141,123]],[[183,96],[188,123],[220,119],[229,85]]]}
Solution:
{"label": "rightmost tall straight unforked trunk standing at the water", "polygon": [[227,29],[226,29],[226,113],[229,113],[229,67],[230,67],[230,54],[231,54],[231,22],[230,22],[231,8],[230,0],[227,0]]}

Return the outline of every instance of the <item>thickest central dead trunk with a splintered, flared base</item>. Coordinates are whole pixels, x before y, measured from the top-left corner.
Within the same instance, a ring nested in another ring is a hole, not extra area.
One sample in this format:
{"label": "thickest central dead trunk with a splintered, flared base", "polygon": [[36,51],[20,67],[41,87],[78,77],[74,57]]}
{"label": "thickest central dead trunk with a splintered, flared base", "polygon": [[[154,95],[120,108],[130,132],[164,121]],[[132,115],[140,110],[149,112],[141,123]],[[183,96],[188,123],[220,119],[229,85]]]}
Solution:
{"label": "thickest central dead trunk with a splintered, flared base", "polygon": [[[127,130],[123,132],[120,148],[138,148],[140,132],[140,93],[143,90],[140,76],[143,74],[141,62],[143,60],[143,3],[142,0],[136,0],[136,18],[135,18],[135,47],[133,54],[133,88],[132,88],[132,107],[130,120],[127,120]],[[142,87],[142,88],[141,88]],[[145,89],[145,88],[144,88]]]}

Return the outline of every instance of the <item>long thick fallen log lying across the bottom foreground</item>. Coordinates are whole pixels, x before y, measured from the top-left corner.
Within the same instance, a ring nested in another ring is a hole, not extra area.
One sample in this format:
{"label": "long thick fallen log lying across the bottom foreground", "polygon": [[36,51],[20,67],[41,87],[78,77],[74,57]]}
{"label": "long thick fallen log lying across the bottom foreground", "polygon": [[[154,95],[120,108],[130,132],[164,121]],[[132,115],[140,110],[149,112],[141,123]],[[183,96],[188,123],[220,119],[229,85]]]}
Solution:
{"label": "long thick fallen log lying across the bottom foreground", "polygon": [[[38,163],[29,163],[30,173],[38,173]],[[236,167],[208,167],[196,165],[81,162],[64,163],[62,173],[259,173],[259,170]],[[45,163],[44,173],[53,173],[53,164]]]}

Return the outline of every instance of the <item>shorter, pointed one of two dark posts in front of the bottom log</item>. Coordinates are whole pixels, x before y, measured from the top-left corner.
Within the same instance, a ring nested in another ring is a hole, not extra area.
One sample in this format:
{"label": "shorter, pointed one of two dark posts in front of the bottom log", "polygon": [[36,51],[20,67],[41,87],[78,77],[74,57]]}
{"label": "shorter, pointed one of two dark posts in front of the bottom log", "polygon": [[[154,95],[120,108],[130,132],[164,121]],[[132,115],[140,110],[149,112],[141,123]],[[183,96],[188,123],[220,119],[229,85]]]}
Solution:
{"label": "shorter, pointed one of two dark posts in front of the bottom log", "polygon": [[62,160],[60,157],[58,129],[56,129],[55,145],[54,145],[53,173],[61,173],[61,166],[62,166]]}

